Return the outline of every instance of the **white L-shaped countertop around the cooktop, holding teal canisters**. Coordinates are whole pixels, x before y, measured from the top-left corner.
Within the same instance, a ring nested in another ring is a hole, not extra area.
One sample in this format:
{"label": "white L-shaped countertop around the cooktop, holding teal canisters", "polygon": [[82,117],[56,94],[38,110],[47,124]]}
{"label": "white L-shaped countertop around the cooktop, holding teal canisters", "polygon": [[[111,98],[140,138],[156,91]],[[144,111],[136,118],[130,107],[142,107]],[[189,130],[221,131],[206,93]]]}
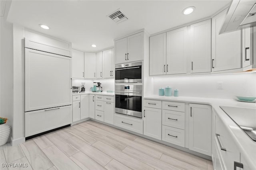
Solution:
{"label": "white L-shaped countertop around the cooktop, holding teal canisters", "polygon": [[[165,101],[172,101],[172,102],[186,102],[186,103],[196,103],[196,104],[208,104],[211,105],[212,108],[216,111],[220,119],[226,125],[228,131],[230,132],[233,141],[237,144],[238,149],[240,150],[241,154],[244,157],[244,160],[248,163],[250,167],[256,167],[256,142],[250,139],[234,123],[234,121],[220,108],[220,106],[230,106],[230,107],[243,107],[243,108],[251,108],[256,109],[256,103],[249,103],[249,102],[238,102],[236,100],[230,99],[216,99],[216,98],[196,98],[196,97],[173,97],[173,96],[146,96],[144,99],[151,99],[151,100],[165,100]],[[241,113],[242,116],[243,113]],[[256,114],[256,113],[255,113]]]}

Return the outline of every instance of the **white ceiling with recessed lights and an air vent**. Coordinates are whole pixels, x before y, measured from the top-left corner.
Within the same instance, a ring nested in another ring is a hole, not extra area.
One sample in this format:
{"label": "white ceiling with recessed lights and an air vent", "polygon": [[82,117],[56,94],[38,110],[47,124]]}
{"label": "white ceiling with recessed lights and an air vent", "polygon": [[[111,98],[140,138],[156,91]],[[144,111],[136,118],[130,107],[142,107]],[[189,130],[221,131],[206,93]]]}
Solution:
{"label": "white ceiling with recessed lights and an air vent", "polygon": [[[75,49],[99,51],[114,46],[113,39],[139,29],[157,33],[211,16],[228,3],[230,0],[13,0],[8,21],[72,42]],[[196,10],[183,15],[182,10],[188,6]],[[106,17],[118,8],[128,18],[120,24]],[[40,28],[40,23],[50,29]]]}

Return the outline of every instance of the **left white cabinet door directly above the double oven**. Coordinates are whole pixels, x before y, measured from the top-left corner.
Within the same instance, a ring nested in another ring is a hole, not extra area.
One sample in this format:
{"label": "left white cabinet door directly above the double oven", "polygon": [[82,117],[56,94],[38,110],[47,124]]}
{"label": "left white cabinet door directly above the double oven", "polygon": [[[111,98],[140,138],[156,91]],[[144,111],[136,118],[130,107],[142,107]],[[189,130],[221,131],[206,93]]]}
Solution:
{"label": "left white cabinet door directly above the double oven", "polygon": [[127,62],[127,37],[115,41],[115,64]]}

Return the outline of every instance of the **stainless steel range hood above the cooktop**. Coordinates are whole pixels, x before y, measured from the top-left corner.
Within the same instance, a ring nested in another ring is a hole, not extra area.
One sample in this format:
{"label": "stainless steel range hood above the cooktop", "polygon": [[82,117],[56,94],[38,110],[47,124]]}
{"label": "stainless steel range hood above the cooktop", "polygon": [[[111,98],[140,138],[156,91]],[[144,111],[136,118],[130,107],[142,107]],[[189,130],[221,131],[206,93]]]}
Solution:
{"label": "stainless steel range hood above the cooktop", "polygon": [[220,33],[256,25],[256,0],[233,0]]}

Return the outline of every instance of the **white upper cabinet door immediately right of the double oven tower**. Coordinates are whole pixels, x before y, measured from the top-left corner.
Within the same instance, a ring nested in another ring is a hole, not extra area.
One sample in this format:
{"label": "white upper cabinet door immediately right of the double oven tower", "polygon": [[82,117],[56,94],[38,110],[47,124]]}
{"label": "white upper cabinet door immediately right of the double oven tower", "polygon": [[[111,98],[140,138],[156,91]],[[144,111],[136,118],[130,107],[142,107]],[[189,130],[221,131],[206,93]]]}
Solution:
{"label": "white upper cabinet door immediately right of the double oven tower", "polygon": [[149,38],[149,75],[166,74],[166,33]]}

